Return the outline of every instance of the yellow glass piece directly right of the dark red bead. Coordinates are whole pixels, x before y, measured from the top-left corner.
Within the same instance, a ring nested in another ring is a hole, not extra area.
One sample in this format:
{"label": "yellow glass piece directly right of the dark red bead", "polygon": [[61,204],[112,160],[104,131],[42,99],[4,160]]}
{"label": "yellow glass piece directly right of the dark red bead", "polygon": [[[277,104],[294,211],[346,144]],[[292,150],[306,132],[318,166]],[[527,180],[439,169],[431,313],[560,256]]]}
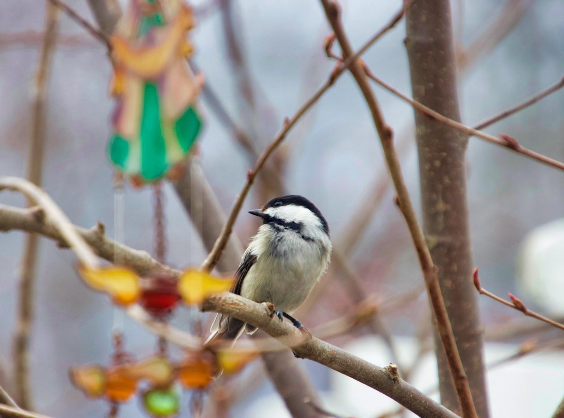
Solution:
{"label": "yellow glass piece directly right of the dark red bead", "polygon": [[178,292],[187,305],[200,305],[205,298],[231,289],[233,279],[212,276],[204,271],[188,269],[178,278]]}

